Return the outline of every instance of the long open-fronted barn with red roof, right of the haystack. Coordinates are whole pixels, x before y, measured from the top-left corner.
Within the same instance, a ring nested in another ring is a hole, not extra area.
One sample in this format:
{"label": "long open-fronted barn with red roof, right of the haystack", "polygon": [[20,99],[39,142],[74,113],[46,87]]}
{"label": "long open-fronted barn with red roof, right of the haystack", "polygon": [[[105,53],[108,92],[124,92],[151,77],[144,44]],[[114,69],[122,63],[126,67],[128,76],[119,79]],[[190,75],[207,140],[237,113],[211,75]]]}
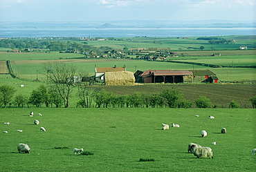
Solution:
{"label": "long open-fronted barn with red roof, right of the haystack", "polygon": [[192,75],[189,70],[137,70],[134,77],[140,83],[182,83],[192,82]]}

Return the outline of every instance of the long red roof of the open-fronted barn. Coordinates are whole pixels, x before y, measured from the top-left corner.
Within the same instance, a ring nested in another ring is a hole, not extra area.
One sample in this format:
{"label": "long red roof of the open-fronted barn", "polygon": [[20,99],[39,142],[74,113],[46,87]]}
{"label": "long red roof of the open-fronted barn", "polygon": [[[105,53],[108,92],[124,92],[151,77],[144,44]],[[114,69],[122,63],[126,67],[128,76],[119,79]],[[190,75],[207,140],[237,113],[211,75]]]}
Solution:
{"label": "long red roof of the open-fronted barn", "polygon": [[142,73],[140,76],[144,77],[145,75],[155,75],[155,76],[161,76],[161,75],[193,75],[191,71],[188,70],[146,70],[144,73]]}

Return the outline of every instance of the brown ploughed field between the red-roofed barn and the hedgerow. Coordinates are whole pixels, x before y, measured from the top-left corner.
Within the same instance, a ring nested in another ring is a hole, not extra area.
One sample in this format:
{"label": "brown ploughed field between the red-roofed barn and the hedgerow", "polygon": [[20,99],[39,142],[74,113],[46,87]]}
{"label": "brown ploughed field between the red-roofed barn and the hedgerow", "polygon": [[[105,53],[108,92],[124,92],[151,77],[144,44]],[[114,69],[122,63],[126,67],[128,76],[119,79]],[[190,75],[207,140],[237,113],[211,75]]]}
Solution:
{"label": "brown ploughed field between the red-roofed barn and the hedgerow", "polygon": [[[102,88],[102,87],[101,87]],[[136,86],[104,86],[104,89],[117,95],[140,93],[161,93],[162,90],[176,88],[181,90],[185,99],[194,102],[205,96],[212,105],[228,108],[234,100],[241,108],[253,108],[250,98],[256,96],[256,84],[143,84]]]}

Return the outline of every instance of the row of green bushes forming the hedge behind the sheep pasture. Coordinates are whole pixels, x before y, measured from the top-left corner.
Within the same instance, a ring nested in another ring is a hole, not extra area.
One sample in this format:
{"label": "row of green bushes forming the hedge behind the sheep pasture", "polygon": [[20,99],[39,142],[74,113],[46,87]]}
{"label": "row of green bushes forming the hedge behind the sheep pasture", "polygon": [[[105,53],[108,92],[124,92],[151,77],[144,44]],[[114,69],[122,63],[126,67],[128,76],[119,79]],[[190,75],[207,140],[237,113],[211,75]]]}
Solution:
{"label": "row of green bushes forming the hedge behind the sheep pasture", "polygon": [[[32,90],[30,96],[22,94],[16,95],[15,88],[12,86],[0,86],[0,107],[8,107],[13,105],[17,108],[23,108],[30,105],[37,108],[45,105],[47,108],[67,107],[66,99],[58,93],[55,88],[47,87],[44,84],[40,85],[35,90]],[[192,108],[193,104],[196,108],[217,108],[217,105],[212,105],[210,99],[205,96],[200,96],[194,102],[190,102],[183,98],[183,93],[180,90],[170,88],[163,90],[161,93],[134,93],[132,95],[114,95],[104,89],[93,89],[90,86],[78,85],[77,95],[80,100],[77,102],[77,107],[81,108]],[[256,96],[250,99],[253,108],[256,106]],[[230,108],[239,108],[237,102],[232,101],[229,104]]]}

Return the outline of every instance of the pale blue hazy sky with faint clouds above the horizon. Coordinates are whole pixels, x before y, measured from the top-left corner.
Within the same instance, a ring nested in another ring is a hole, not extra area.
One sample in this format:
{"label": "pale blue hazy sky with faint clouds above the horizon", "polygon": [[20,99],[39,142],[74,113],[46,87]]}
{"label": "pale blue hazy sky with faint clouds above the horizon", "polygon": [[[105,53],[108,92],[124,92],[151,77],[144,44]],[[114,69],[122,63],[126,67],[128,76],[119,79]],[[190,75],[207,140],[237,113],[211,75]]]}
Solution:
{"label": "pale blue hazy sky with faint clouds above the horizon", "polygon": [[0,21],[255,21],[256,0],[0,0]]}

